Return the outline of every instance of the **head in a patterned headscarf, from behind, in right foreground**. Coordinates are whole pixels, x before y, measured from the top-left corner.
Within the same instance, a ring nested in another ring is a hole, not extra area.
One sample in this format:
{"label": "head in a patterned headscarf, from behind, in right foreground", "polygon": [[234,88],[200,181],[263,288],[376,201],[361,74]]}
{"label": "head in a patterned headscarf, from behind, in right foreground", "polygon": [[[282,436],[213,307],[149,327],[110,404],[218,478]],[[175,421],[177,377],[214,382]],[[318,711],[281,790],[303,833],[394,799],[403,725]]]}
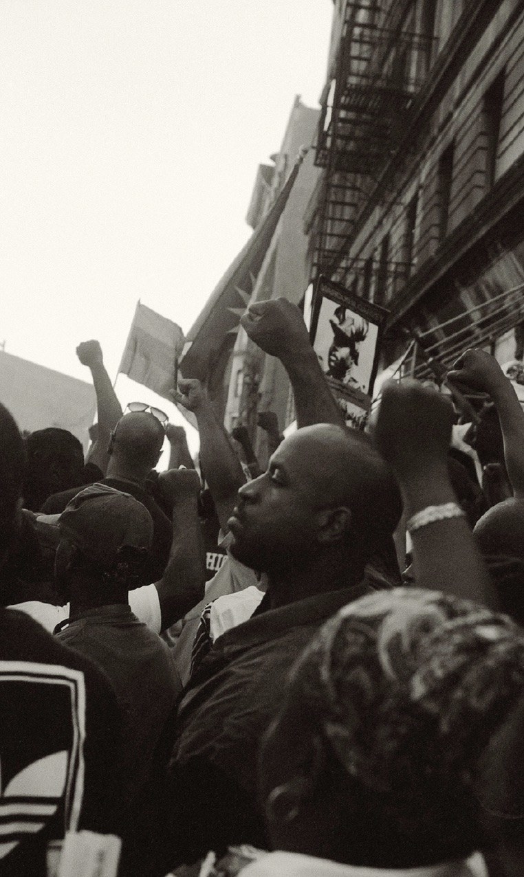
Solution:
{"label": "head in a patterned headscarf, from behind, in right foreground", "polygon": [[296,831],[302,799],[305,820],[322,820],[332,802],[334,827],[300,852],[385,868],[467,856],[485,841],[477,769],[523,683],[524,636],[506,617],[415,589],[363,597],[327,622],[293,671],[269,756],[262,750],[269,805],[277,770]]}

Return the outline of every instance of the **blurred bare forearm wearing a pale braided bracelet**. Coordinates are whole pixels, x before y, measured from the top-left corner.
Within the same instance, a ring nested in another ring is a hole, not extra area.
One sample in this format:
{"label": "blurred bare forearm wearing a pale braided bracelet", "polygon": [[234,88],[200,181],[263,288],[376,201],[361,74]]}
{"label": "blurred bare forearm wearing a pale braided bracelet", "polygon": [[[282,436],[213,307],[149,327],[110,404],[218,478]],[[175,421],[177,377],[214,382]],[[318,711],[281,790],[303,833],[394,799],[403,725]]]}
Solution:
{"label": "blurred bare forearm wearing a pale braided bracelet", "polygon": [[[402,484],[406,517],[429,505],[456,503],[445,467],[420,471]],[[496,608],[484,561],[463,517],[435,521],[413,531],[413,569],[420,588],[454,594]]]}

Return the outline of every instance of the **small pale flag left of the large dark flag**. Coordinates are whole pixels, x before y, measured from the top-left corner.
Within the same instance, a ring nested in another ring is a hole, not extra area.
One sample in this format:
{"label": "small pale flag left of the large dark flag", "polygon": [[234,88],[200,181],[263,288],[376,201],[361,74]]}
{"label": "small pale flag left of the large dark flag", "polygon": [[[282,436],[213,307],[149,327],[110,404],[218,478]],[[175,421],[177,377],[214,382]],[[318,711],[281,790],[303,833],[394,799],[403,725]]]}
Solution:
{"label": "small pale flag left of the large dark flag", "polygon": [[183,344],[179,325],[139,301],[118,372],[169,399]]}

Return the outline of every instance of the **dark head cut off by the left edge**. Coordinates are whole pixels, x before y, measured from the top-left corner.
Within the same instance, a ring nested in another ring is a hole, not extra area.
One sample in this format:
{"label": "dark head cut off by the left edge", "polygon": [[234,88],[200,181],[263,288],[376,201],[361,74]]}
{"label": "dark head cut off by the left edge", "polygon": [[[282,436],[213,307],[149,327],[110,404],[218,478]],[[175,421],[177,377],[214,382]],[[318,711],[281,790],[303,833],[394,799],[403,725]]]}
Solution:
{"label": "dark head cut off by the left edge", "polygon": [[24,468],[24,443],[18,426],[0,404],[0,565],[15,538]]}

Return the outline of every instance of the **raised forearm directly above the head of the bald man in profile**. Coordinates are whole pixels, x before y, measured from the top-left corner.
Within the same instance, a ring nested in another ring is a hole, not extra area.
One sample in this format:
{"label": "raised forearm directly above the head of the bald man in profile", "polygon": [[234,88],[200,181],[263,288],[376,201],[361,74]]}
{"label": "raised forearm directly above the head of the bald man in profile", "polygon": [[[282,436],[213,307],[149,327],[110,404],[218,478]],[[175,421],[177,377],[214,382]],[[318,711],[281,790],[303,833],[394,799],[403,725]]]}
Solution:
{"label": "raised forearm directly above the head of the bald man in profile", "polygon": [[312,347],[302,351],[299,356],[283,359],[282,362],[293,389],[298,428],[312,424],[345,426],[341,410],[334,400]]}

